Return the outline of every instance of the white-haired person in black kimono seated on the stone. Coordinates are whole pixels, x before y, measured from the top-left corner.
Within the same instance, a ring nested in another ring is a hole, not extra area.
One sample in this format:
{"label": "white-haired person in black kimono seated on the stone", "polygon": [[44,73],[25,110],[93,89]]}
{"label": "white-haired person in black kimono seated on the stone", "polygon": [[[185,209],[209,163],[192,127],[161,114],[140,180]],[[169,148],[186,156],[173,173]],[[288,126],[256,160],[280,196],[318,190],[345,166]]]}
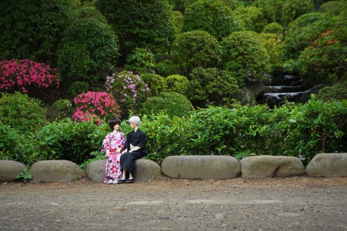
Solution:
{"label": "white-haired person in black kimono seated on the stone", "polygon": [[126,149],[121,155],[121,179],[118,180],[118,184],[134,182],[135,160],[147,155],[147,137],[139,130],[139,117],[130,117],[129,122],[133,131],[126,136]]}

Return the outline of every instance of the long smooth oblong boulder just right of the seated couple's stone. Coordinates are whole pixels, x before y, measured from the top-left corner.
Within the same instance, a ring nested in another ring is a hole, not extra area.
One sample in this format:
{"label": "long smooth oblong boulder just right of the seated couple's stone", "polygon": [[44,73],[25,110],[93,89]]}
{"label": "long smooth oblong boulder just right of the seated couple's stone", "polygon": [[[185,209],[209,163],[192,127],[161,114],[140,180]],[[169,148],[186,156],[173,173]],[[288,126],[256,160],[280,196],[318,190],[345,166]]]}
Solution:
{"label": "long smooth oblong boulder just right of the seated couple's stone", "polygon": [[166,157],[162,173],[178,179],[230,179],[239,176],[239,162],[226,155],[177,155]]}

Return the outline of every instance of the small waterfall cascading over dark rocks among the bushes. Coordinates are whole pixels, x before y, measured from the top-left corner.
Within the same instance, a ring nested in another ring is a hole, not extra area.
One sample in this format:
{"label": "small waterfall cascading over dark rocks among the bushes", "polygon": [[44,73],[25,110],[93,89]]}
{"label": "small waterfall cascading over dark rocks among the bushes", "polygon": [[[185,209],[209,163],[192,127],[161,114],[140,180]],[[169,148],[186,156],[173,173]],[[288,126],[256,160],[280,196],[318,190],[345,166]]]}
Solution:
{"label": "small waterfall cascading over dark rocks among the bushes", "polygon": [[266,103],[270,108],[280,107],[285,100],[289,102],[300,102],[305,87],[301,85],[300,77],[285,75],[274,78],[271,86],[266,86],[266,91],[261,94],[258,103]]}

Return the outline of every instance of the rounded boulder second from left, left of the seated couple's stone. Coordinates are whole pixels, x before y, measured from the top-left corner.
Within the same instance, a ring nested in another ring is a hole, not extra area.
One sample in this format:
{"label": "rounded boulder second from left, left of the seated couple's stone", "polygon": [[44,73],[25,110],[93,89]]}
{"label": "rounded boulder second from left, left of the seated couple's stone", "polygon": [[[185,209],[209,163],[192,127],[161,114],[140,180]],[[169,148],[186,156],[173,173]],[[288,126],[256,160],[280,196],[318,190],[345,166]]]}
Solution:
{"label": "rounded boulder second from left, left of the seated couple's stone", "polygon": [[69,160],[42,160],[31,166],[31,182],[71,182],[85,176],[85,172]]}

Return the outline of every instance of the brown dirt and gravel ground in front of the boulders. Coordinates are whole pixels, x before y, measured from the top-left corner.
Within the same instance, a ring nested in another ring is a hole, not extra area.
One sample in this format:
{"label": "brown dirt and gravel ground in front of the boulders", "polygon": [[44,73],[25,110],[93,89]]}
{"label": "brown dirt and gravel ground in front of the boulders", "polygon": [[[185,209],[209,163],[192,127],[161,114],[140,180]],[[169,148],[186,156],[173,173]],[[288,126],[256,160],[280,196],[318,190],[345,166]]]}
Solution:
{"label": "brown dirt and gravel ground in front of the boulders", "polygon": [[347,230],[347,178],[1,182],[0,230]]}

